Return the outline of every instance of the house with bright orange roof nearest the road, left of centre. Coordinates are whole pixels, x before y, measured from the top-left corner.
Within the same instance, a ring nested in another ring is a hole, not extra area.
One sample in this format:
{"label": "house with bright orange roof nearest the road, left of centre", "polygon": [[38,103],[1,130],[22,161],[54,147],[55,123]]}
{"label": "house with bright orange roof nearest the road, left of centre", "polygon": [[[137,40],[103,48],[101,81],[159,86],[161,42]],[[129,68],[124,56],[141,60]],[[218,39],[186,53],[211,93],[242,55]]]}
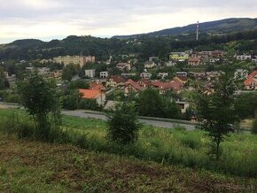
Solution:
{"label": "house with bright orange roof nearest the road, left of centre", "polygon": [[79,93],[82,98],[96,100],[100,106],[105,105],[105,92],[99,89],[79,89]]}

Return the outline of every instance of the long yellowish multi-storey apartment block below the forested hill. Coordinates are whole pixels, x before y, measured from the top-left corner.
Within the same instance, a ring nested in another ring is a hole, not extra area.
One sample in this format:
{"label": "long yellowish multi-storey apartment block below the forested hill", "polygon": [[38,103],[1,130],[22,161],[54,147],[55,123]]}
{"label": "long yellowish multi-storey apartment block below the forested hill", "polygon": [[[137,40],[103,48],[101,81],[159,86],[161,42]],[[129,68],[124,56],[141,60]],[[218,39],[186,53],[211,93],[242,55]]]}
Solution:
{"label": "long yellowish multi-storey apartment block below the forested hill", "polygon": [[96,62],[96,58],[92,56],[66,56],[66,57],[56,57],[52,59],[53,62],[64,64],[65,66],[69,64],[84,66],[88,62]]}

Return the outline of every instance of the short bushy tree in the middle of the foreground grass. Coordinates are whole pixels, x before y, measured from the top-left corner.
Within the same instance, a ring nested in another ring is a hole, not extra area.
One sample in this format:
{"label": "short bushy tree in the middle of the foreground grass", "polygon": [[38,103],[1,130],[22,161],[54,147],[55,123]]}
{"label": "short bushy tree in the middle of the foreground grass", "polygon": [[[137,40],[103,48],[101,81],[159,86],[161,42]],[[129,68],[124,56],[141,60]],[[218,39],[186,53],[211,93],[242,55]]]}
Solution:
{"label": "short bushy tree in the middle of the foreground grass", "polygon": [[118,103],[106,112],[108,137],[120,144],[134,143],[141,124],[138,123],[134,103]]}

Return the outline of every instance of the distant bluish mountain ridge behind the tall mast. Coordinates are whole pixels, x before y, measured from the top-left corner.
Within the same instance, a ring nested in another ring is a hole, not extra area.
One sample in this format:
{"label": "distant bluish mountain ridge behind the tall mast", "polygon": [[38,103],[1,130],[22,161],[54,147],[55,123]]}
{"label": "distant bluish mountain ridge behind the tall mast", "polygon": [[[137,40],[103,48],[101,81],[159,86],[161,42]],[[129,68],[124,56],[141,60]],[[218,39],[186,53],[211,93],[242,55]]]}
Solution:
{"label": "distant bluish mountain ridge behind the tall mast", "polygon": [[[146,34],[138,35],[115,35],[113,38],[128,39],[136,38],[139,36],[168,36],[168,35],[184,35],[192,34],[196,32],[196,23],[184,27],[173,27],[162,29],[160,31],[150,32]],[[230,18],[221,19],[199,23],[199,32],[214,34],[214,35],[224,35],[231,32],[239,32],[246,29],[256,29],[257,28],[257,18]]]}

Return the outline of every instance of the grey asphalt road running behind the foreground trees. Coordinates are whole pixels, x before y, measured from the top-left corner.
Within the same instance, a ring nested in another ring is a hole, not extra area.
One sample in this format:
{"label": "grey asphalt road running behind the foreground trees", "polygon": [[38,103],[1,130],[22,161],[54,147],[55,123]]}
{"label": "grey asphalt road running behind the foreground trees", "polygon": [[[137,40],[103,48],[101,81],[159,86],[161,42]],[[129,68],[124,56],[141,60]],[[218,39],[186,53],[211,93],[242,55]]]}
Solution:
{"label": "grey asphalt road running behind the foreground trees", "polygon": [[[17,108],[18,105],[14,104],[1,104],[0,103],[0,108]],[[91,113],[91,112],[85,112],[85,110],[74,110],[74,111],[62,111],[63,114],[74,116],[74,117],[81,117],[81,118],[90,118],[90,119],[97,119],[97,120],[106,120],[105,115],[100,114],[100,113]],[[167,121],[167,120],[149,120],[149,119],[139,119],[139,121],[145,125],[150,125],[154,127],[175,127],[175,126],[180,126],[180,127],[185,127],[186,130],[194,130],[195,126],[191,124],[184,124],[184,123],[177,123],[177,122],[172,122],[172,121]]]}

